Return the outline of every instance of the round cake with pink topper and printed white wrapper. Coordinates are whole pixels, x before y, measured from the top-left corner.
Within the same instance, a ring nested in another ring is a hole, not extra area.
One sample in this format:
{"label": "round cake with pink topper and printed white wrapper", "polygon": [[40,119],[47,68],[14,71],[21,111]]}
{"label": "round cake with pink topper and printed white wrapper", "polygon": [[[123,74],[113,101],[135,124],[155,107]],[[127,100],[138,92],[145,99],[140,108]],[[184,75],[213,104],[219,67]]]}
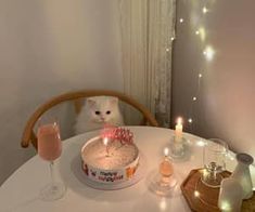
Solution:
{"label": "round cake with pink topper and printed white wrapper", "polygon": [[127,130],[114,129],[82,146],[82,170],[89,180],[116,184],[132,178],[139,164],[139,150],[127,133],[130,135]]}

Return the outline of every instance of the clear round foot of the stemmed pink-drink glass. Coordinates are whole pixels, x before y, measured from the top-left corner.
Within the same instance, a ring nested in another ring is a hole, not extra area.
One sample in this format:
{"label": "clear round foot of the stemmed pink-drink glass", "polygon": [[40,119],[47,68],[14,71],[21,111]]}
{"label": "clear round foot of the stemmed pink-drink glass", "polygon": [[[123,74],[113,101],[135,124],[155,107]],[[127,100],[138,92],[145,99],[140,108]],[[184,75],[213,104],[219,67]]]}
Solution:
{"label": "clear round foot of the stemmed pink-drink glass", "polygon": [[63,183],[52,183],[42,188],[40,199],[43,201],[54,201],[61,199],[65,191],[66,187]]}

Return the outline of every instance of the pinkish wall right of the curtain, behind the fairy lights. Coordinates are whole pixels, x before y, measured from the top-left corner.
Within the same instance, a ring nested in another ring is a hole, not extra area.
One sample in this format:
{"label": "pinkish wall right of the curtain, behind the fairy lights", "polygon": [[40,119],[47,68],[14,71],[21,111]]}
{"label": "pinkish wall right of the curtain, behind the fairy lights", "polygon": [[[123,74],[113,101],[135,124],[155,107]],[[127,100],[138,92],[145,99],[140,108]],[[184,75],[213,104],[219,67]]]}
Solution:
{"label": "pinkish wall right of the curtain, behind the fairy lights", "polygon": [[[206,39],[195,35],[197,14],[211,2],[202,25]],[[178,1],[177,39],[174,55],[174,116],[189,117],[197,74],[203,72],[199,101],[193,108],[193,131],[205,137],[221,137],[237,151],[255,157],[255,1]],[[215,57],[206,62],[206,44]],[[188,123],[187,123],[188,125]]]}

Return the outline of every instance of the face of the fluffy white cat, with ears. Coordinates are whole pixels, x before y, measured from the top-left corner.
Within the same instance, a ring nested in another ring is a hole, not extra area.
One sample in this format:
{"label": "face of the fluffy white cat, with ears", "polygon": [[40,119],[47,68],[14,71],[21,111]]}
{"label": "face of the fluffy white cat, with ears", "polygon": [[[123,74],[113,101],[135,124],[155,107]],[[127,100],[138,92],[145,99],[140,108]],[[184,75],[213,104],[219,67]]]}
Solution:
{"label": "face of the fluffy white cat, with ears", "polygon": [[92,121],[97,123],[107,123],[117,116],[118,98],[98,96],[88,98],[89,114]]}

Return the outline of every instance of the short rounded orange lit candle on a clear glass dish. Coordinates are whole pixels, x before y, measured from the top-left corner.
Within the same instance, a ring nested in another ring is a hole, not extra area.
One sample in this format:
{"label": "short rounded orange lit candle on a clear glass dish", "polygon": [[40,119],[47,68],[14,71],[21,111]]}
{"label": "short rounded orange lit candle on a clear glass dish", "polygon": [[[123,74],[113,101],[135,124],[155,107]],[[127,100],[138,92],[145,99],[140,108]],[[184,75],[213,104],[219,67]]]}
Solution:
{"label": "short rounded orange lit candle on a clear glass dish", "polygon": [[168,159],[168,153],[169,149],[165,148],[164,149],[164,160],[160,164],[160,173],[162,175],[162,183],[169,183],[169,177],[173,174],[173,165],[170,163],[170,160]]}

